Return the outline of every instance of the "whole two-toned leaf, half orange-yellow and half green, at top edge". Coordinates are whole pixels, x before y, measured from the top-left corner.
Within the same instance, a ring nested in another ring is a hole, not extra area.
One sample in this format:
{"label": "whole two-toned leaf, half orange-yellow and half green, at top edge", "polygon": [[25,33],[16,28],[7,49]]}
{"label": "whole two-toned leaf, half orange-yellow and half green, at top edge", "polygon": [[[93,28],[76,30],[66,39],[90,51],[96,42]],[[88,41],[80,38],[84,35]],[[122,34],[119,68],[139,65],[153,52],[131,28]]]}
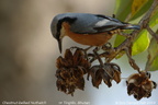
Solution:
{"label": "whole two-toned leaf, half orange-yellow and half green, at top edge", "polygon": [[143,15],[150,5],[153,4],[154,0],[133,0],[132,4],[132,15],[129,21],[135,20]]}

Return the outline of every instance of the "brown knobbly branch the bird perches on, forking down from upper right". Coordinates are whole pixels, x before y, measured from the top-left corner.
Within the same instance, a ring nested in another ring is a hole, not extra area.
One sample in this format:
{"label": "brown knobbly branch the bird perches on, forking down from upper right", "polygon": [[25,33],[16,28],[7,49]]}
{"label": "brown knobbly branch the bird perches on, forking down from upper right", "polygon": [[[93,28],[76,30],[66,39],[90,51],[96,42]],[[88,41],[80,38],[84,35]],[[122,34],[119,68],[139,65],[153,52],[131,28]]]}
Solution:
{"label": "brown knobbly branch the bird perches on, forking down from upper right", "polygon": [[[111,62],[114,58],[116,58],[116,56],[119,54],[121,54],[123,50],[125,50],[131,66],[139,72],[140,71],[139,67],[135,63],[134,59],[132,59],[132,57],[129,55],[129,47],[133,44],[135,37],[142,32],[142,30],[148,28],[149,19],[157,5],[158,5],[158,0],[155,0],[153,2],[153,5],[150,7],[150,9],[147,11],[147,13],[142,18],[142,20],[138,23],[140,25],[140,30],[139,31],[135,30],[131,34],[128,34],[129,37],[127,37],[121,45],[119,45],[115,48],[112,48],[112,47],[108,48],[105,46],[105,49],[104,49],[104,47],[102,48],[103,50],[105,50],[105,52],[100,54],[100,55],[98,54],[98,56],[88,55],[88,56],[92,56],[92,58],[93,58],[93,59],[91,59],[91,62],[93,62],[95,59],[98,59],[99,62],[102,65],[103,62],[100,59],[102,57],[105,58],[105,62]],[[148,31],[150,34],[154,33],[150,31],[150,28],[148,28]]]}

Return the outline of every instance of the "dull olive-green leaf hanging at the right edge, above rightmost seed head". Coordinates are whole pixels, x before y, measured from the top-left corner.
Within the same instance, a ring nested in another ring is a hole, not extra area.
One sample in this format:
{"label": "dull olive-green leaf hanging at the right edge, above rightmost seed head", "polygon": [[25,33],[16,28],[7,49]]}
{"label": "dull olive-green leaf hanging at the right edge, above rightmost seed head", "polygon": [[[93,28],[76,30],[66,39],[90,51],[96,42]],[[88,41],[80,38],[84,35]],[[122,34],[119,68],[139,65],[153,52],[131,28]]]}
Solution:
{"label": "dull olive-green leaf hanging at the right edge, above rightmost seed head", "polygon": [[148,48],[148,61],[146,63],[146,70],[158,70],[158,43],[155,38],[151,38]]}

